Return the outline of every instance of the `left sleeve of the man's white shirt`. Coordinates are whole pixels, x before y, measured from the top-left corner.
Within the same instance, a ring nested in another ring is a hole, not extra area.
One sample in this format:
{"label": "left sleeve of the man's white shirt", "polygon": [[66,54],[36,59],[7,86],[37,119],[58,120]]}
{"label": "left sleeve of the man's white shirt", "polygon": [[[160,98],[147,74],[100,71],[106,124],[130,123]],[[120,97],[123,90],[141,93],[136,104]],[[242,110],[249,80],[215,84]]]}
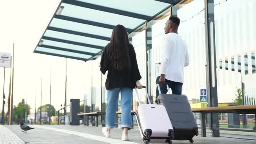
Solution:
{"label": "left sleeve of the man's white shirt", "polygon": [[162,38],[162,41],[160,43],[160,53],[161,53],[161,65],[160,65],[160,74],[166,75],[168,71],[168,65],[169,65],[169,57],[171,54],[171,47],[169,40],[165,37]]}

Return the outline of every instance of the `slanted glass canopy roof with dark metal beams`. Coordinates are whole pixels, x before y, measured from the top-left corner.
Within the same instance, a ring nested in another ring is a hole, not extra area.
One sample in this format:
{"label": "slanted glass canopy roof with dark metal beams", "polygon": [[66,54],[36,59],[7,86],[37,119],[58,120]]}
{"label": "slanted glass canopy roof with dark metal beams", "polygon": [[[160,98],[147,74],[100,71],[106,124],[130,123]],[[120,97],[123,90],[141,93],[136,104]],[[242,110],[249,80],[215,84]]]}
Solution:
{"label": "slanted glass canopy roof with dark metal beams", "polygon": [[117,24],[129,33],[180,0],[61,0],[35,53],[87,61],[99,56]]}

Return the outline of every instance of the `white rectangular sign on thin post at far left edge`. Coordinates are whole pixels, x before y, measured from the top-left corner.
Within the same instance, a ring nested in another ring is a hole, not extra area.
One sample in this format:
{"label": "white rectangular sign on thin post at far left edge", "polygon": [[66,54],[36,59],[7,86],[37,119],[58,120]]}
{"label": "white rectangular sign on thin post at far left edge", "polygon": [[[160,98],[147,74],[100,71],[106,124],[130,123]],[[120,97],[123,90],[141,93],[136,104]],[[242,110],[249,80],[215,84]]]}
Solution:
{"label": "white rectangular sign on thin post at far left edge", "polygon": [[5,124],[5,68],[11,67],[11,53],[0,53],[0,67],[4,68],[3,72],[3,109],[2,109],[2,125]]}

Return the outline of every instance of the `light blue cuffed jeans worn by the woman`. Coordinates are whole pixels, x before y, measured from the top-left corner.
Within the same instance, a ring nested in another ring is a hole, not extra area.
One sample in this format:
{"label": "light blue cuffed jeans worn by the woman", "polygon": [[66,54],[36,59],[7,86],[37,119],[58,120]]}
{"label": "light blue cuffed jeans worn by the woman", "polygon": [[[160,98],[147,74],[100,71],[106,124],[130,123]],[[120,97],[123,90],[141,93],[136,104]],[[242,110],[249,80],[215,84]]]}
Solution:
{"label": "light blue cuffed jeans worn by the woman", "polygon": [[113,88],[107,91],[106,127],[115,128],[117,102],[121,91],[121,128],[131,129],[132,88]]}

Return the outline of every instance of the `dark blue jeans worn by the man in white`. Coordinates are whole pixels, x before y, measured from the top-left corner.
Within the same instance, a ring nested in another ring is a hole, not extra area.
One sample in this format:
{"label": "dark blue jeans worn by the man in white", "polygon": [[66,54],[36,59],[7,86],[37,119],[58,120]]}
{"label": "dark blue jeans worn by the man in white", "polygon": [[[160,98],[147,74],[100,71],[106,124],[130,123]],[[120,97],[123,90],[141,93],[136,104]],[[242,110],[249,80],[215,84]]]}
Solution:
{"label": "dark blue jeans worn by the man in white", "polygon": [[[156,82],[159,81],[159,78],[160,78],[160,76],[157,77]],[[169,88],[171,88],[172,94],[181,95],[183,83],[174,82],[174,81],[166,80],[166,79],[165,79],[165,83],[168,84]],[[160,86],[161,93],[167,93],[168,92],[167,87],[166,87],[165,84],[164,85],[159,85],[159,86]],[[159,91],[158,91],[158,88],[157,88],[156,89],[156,99],[157,99],[158,95],[159,95]]]}

